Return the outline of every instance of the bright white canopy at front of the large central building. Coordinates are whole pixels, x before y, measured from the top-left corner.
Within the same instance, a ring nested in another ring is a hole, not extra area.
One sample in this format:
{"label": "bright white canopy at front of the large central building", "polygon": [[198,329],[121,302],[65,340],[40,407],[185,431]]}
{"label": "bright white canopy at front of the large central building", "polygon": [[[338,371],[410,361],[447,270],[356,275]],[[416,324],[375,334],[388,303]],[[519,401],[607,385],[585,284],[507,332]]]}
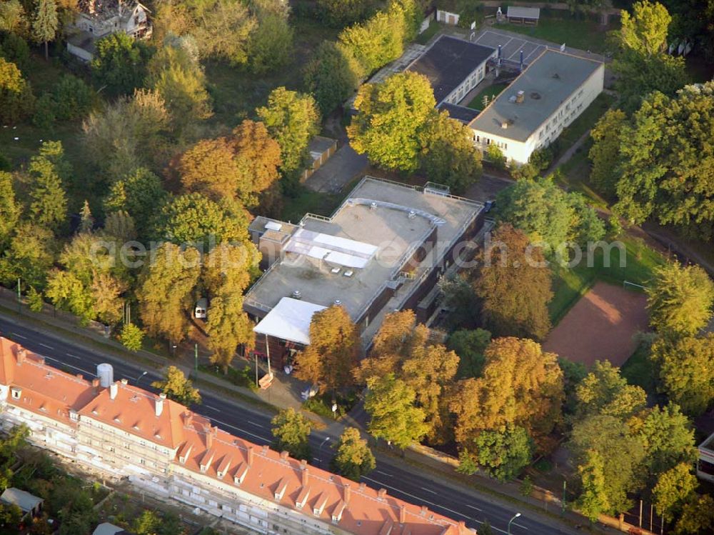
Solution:
{"label": "bright white canopy at front of the large central building", "polygon": [[253,331],[306,346],[310,344],[310,321],[313,314],[326,308],[308,301],[283,297],[253,327]]}

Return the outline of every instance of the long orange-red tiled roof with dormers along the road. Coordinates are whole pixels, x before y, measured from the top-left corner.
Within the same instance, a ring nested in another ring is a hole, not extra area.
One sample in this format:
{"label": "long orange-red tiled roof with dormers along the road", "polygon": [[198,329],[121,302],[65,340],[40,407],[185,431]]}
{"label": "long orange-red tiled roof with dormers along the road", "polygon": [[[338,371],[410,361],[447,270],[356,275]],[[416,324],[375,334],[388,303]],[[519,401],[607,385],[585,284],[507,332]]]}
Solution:
{"label": "long orange-red tiled roof with dormers along the road", "polygon": [[388,496],[384,489],[376,491],[239,439],[169,399],[163,400],[156,416],[159,397],[143,389],[117,382],[112,399],[110,389],[96,389],[80,377],[47,366],[29,351],[20,364],[20,349],[0,337],[0,382],[22,390],[21,399],[9,399],[10,403],[59,421],[69,421],[69,409],[74,409],[178,449],[175,462],[188,470],[328,524],[335,517],[340,529],[356,535],[473,535],[463,522]]}

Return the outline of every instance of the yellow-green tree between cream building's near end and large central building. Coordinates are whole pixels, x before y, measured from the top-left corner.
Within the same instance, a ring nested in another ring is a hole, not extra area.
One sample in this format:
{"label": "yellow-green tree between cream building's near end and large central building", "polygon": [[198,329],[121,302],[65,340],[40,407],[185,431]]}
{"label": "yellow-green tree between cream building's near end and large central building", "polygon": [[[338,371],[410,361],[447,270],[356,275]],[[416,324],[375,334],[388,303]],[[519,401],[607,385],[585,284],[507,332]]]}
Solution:
{"label": "yellow-green tree between cream building's near end and large central building", "polygon": [[481,177],[481,151],[473,146],[471,129],[447,111],[434,113],[421,132],[421,166],[431,181],[462,194]]}

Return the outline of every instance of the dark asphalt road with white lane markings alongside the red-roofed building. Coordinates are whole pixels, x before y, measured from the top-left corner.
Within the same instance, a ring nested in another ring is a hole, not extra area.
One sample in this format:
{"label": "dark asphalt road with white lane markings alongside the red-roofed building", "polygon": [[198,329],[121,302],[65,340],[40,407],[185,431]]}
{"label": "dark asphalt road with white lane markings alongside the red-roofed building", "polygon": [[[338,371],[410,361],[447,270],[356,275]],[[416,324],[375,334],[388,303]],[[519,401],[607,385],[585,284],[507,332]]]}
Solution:
{"label": "dark asphalt road with white lane markings alongside the red-roofed building", "polygon": [[[131,384],[139,384],[151,390],[151,381],[161,379],[155,370],[144,370],[138,364],[128,363],[96,351],[89,351],[52,334],[39,332],[17,324],[14,320],[0,316],[0,333],[14,339],[27,349],[41,354],[48,364],[66,371],[83,374],[93,379],[96,365],[108,362],[114,366],[114,378],[129,379]],[[144,374],[146,371],[146,374]],[[202,391],[203,403],[193,410],[207,416],[221,429],[240,436],[255,444],[270,444],[271,416],[251,407],[238,404],[232,399],[215,396]],[[330,443],[325,442],[326,434],[319,431],[311,434],[311,446],[316,455],[313,464],[328,468]],[[388,494],[416,505],[426,505],[432,511],[455,520],[466,521],[466,525],[478,529],[485,519],[491,523],[493,531],[506,534],[508,520],[516,514],[516,504],[496,501],[492,496],[476,491],[468,493],[435,481],[431,474],[415,474],[401,466],[397,459],[380,459],[377,467],[364,481],[376,489],[384,487]],[[580,534],[582,531],[569,528],[558,521],[540,516],[527,510],[523,516],[511,524],[513,535],[558,535]]]}

